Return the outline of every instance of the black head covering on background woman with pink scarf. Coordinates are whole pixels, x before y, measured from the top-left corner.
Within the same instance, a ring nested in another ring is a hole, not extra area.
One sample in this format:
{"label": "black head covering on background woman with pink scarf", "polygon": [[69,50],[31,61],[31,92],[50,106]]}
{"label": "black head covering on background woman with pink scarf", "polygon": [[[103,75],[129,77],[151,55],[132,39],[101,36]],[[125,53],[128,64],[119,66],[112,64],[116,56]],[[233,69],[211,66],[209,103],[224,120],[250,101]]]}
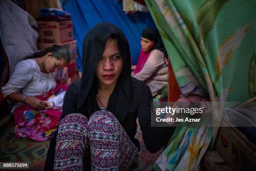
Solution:
{"label": "black head covering on background woman with pink scarf", "polygon": [[151,50],[159,49],[160,51],[162,51],[164,53],[164,50],[165,50],[164,43],[163,43],[162,38],[156,28],[148,27],[148,28],[143,29],[141,36],[143,38],[147,38],[151,41],[154,41],[154,45],[151,48]]}

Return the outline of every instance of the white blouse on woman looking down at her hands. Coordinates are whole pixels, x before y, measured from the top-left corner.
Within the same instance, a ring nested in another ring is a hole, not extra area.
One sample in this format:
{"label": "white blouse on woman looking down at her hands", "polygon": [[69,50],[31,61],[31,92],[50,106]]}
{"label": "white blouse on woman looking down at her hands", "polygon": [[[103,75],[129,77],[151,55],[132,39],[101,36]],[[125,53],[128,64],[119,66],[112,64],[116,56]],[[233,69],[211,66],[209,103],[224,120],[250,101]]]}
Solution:
{"label": "white blouse on woman looking down at her hands", "polygon": [[[43,73],[34,59],[26,59],[15,66],[13,75],[2,87],[2,93],[4,97],[12,92],[37,96],[56,87],[55,77],[56,72]],[[17,104],[14,107],[17,107]]]}

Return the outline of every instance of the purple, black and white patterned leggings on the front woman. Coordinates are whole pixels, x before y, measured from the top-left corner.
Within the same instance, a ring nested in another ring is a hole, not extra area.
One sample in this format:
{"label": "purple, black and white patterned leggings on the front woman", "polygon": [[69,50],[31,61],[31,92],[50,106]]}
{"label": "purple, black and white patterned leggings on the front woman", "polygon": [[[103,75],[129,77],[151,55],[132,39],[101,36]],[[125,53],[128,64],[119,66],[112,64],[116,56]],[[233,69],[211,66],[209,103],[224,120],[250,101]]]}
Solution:
{"label": "purple, black and white patterned leggings on the front woman", "polygon": [[86,160],[91,160],[92,171],[127,171],[139,155],[138,148],[108,111],[94,112],[89,121],[79,113],[67,115],[58,131],[55,171],[82,171]]}

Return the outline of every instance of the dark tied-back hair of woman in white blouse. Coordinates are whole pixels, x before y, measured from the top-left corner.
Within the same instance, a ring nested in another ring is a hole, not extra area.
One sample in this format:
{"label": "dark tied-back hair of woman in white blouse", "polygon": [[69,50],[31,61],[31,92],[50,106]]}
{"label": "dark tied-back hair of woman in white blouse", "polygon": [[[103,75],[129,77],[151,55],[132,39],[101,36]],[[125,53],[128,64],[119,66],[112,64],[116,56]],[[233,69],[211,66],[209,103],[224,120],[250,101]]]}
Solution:
{"label": "dark tied-back hair of woman in white blouse", "polygon": [[56,58],[58,60],[66,59],[68,63],[70,61],[69,50],[65,46],[60,46],[60,45],[54,45],[50,48],[45,48],[43,51],[36,51],[32,55],[27,56],[25,59],[33,59],[33,58],[41,57],[48,54],[49,52],[52,53],[53,58]]}

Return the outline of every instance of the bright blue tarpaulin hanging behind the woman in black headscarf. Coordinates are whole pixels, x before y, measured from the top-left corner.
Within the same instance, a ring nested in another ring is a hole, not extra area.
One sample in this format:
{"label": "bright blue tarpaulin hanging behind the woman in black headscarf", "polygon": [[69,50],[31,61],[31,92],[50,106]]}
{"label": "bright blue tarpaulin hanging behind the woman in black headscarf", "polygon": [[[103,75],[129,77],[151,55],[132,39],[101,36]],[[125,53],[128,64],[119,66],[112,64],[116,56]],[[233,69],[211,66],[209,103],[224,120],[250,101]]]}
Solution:
{"label": "bright blue tarpaulin hanging behind the woman in black headscarf", "polygon": [[62,7],[71,13],[74,40],[77,40],[77,68],[82,71],[82,43],[85,34],[97,23],[108,22],[118,26],[128,39],[133,64],[141,50],[143,28],[155,26],[150,13],[136,12],[125,15],[122,1],[116,0],[62,0]]}

